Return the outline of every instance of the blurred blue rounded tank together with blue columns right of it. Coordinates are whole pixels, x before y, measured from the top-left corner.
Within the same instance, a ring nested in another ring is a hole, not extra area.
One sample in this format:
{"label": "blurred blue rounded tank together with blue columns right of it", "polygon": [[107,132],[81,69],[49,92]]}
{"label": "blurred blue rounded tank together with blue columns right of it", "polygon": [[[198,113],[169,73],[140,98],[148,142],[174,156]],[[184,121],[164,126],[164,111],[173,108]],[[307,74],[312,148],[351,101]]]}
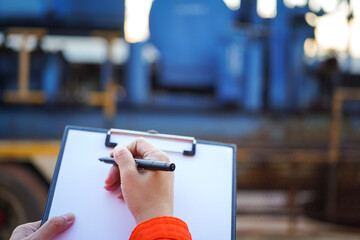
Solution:
{"label": "blurred blue rounded tank together with blue columns right of it", "polygon": [[256,1],[242,6],[238,17],[247,21],[246,29],[235,28],[234,13],[219,0],[156,0],[150,42],[161,56],[158,84],[212,88],[217,102],[250,111],[260,111],[263,103],[280,111],[306,107],[303,42],[313,29],[304,15],[310,10],[288,9],[278,0],[277,17],[265,21],[256,13]]}

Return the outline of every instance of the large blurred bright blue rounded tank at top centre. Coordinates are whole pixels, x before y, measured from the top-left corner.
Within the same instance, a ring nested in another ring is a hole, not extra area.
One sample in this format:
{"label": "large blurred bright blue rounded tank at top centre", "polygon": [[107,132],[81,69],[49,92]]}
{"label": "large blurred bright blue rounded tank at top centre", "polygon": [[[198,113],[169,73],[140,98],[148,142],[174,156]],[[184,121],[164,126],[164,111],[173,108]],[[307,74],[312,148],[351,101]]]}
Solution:
{"label": "large blurred bright blue rounded tank at top centre", "polygon": [[161,53],[159,84],[212,87],[218,56],[231,27],[231,12],[218,0],[156,0],[150,13],[150,42]]}

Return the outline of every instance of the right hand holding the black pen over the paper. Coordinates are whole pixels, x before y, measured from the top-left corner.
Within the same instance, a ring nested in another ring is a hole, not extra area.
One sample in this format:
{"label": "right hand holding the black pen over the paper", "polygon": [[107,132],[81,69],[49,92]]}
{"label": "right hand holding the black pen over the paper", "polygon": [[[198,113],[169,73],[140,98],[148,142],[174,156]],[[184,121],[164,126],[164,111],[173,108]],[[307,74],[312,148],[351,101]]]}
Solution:
{"label": "right hand holding the black pen over the paper", "polygon": [[173,216],[174,173],[138,170],[134,157],[170,162],[161,150],[138,138],[127,147],[117,146],[111,153],[119,167],[113,166],[105,180],[105,189],[116,191],[124,199],[136,224],[154,217]]}

